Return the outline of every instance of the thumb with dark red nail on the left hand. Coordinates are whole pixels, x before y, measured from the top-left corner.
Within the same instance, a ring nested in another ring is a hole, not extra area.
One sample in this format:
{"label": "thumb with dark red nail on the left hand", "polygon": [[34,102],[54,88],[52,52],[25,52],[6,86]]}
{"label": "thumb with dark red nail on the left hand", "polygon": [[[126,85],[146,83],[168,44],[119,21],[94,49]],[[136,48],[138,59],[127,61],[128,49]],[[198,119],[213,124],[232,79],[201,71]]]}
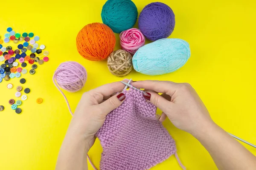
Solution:
{"label": "thumb with dark red nail on the left hand", "polygon": [[107,116],[109,112],[118,108],[124,100],[125,100],[125,94],[119,93],[110,97],[105,102],[102,102],[101,104],[99,104],[99,107],[101,108],[102,113],[104,113],[105,116]]}

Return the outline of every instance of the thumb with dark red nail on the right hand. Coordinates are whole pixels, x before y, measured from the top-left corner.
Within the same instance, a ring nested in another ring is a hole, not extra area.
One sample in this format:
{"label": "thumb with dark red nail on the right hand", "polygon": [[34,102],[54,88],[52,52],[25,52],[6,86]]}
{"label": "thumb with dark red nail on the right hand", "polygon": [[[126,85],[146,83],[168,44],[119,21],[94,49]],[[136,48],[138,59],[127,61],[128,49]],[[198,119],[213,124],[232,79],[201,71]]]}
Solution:
{"label": "thumb with dark red nail on the right hand", "polygon": [[157,93],[154,92],[146,92],[143,94],[144,98],[149,100],[153,105],[157,106],[157,108],[160,108],[163,112],[168,112],[169,106],[173,105],[172,102],[169,102],[163,96],[160,96]]}

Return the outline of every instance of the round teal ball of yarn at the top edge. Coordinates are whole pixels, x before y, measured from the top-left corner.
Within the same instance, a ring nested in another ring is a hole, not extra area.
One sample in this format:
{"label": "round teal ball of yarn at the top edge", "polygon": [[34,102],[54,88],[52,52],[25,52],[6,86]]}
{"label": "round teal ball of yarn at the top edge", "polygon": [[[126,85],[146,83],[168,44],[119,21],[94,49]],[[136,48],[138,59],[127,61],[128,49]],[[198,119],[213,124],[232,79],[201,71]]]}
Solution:
{"label": "round teal ball of yarn at the top edge", "polygon": [[102,7],[101,16],[104,24],[120,33],[134,26],[138,10],[131,0],[108,0]]}

